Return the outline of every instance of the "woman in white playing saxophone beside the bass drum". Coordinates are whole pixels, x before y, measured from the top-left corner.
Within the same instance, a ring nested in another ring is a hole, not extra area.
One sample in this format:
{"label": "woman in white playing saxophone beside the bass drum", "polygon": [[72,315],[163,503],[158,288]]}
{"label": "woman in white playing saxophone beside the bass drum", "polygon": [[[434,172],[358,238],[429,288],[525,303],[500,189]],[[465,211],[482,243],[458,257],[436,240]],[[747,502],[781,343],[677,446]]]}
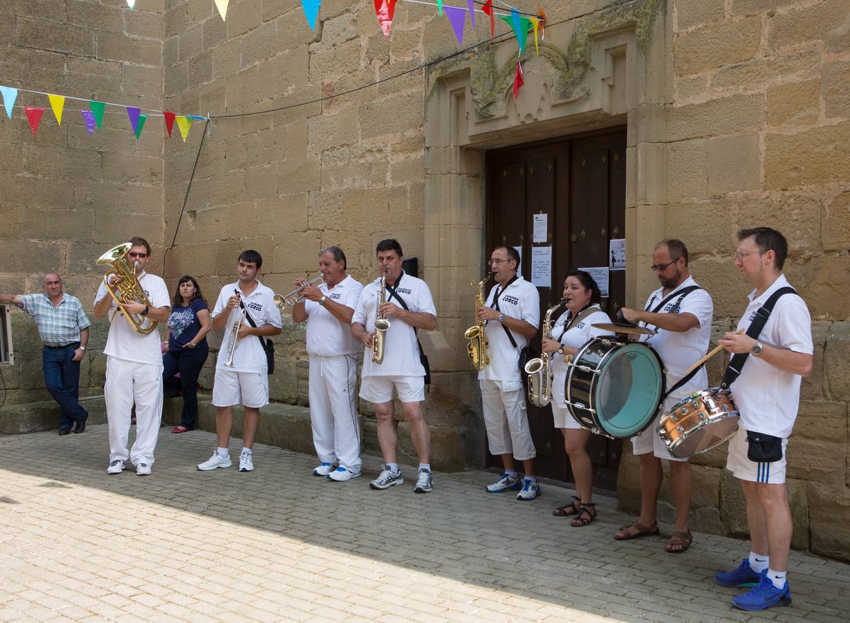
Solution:
{"label": "woman in white playing saxophone beside the bass drum", "polygon": [[570,504],[556,508],[557,517],[575,518],[570,525],[587,526],[596,519],[596,505],[592,500],[593,467],[587,454],[587,440],[591,432],[579,426],[564,405],[564,382],[567,379],[567,357],[592,338],[613,335],[604,329],[594,329],[595,323],[610,323],[608,314],[599,308],[599,287],[586,271],[570,271],[564,280],[564,299],[567,312],[561,315],[552,328],[552,339],[543,340],[543,351],[553,353],[552,414],[555,428],[564,433],[564,444],[570,456],[570,466],[575,478],[575,493]]}

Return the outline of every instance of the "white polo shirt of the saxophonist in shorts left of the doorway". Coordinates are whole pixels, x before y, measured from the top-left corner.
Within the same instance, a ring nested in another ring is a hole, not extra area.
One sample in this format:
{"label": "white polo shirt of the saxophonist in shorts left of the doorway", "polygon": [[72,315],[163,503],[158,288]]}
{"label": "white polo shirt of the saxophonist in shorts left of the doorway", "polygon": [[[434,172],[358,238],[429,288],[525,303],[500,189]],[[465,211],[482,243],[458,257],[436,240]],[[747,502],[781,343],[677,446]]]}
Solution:
{"label": "white polo shirt of the saxophonist in shorts left of the doorway", "polygon": [[[437,317],[437,310],[433,305],[431,290],[428,283],[411,277],[405,272],[401,273],[399,287],[396,289],[402,299],[405,300],[407,308],[411,312],[425,312]],[[362,324],[367,333],[375,333],[375,312],[377,309],[377,294],[381,287],[381,280],[368,283],[360,294],[357,307],[354,308],[354,317],[351,323]],[[398,300],[389,297],[386,292],[387,302],[401,307]],[[383,353],[383,362],[378,365],[371,360],[371,348],[364,347],[362,375],[366,376],[424,376],[425,369],[419,361],[419,346],[416,345],[416,334],[413,327],[399,318],[389,318],[389,329],[386,334],[386,347]]]}

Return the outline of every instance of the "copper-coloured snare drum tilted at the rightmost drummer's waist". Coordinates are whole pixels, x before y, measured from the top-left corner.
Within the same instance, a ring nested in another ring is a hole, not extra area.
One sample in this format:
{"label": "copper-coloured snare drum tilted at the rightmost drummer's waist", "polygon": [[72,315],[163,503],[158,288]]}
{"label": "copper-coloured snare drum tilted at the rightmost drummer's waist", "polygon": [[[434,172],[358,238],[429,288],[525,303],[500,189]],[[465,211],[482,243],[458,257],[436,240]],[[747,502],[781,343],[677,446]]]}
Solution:
{"label": "copper-coloured snare drum tilted at the rightmost drummer's waist", "polygon": [[657,432],[677,459],[707,452],[738,430],[738,409],[728,390],[694,392],[661,416]]}

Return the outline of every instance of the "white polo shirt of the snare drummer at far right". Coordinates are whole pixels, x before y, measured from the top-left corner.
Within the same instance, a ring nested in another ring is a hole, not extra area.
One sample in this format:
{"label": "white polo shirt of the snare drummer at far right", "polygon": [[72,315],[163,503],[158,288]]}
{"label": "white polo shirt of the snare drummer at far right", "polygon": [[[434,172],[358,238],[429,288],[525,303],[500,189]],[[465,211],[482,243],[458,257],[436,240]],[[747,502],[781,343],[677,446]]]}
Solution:
{"label": "white polo shirt of the snare drummer at far right", "polygon": [[[753,290],[749,294],[750,305],[738,321],[738,329],[749,329],[757,309],[774,291],[787,285],[785,275],[779,275],[758,298]],[[805,301],[798,294],[780,296],[757,339],[763,344],[811,355],[814,350],[812,317]],[[789,437],[800,406],[801,380],[799,374],[774,368],[760,357],[747,357],[744,369],[730,388],[740,411],[740,426],[751,432]]]}

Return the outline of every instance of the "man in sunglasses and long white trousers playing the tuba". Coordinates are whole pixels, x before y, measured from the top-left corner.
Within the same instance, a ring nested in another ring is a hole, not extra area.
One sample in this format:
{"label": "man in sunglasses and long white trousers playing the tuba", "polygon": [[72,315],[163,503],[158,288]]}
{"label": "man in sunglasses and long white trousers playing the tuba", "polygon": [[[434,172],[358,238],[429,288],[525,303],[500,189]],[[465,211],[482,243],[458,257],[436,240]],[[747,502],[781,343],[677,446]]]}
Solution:
{"label": "man in sunglasses and long white trousers playing the tuba", "polygon": [[[127,460],[136,466],[136,474],[147,476],[154,464],[154,449],[162,417],[162,352],[156,330],[141,334],[133,329],[127,314],[165,323],[171,312],[168,289],[161,277],[144,269],[150,260],[150,244],[144,238],[133,237],[127,251],[128,270],[132,271],[137,289],[144,291],[150,305],[138,300],[122,301],[119,308],[115,298],[101,281],[94,297],[94,317],[109,314],[109,336],[106,338],[106,382],[104,385],[106,419],[109,422],[110,454],[108,474],[120,474]],[[124,261],[124,260],[121,260]],[[129,277],[112,274],[112,289],[129,290]],[[136,440],[127,451],[130,434],[130,412],[136,405]]]}

